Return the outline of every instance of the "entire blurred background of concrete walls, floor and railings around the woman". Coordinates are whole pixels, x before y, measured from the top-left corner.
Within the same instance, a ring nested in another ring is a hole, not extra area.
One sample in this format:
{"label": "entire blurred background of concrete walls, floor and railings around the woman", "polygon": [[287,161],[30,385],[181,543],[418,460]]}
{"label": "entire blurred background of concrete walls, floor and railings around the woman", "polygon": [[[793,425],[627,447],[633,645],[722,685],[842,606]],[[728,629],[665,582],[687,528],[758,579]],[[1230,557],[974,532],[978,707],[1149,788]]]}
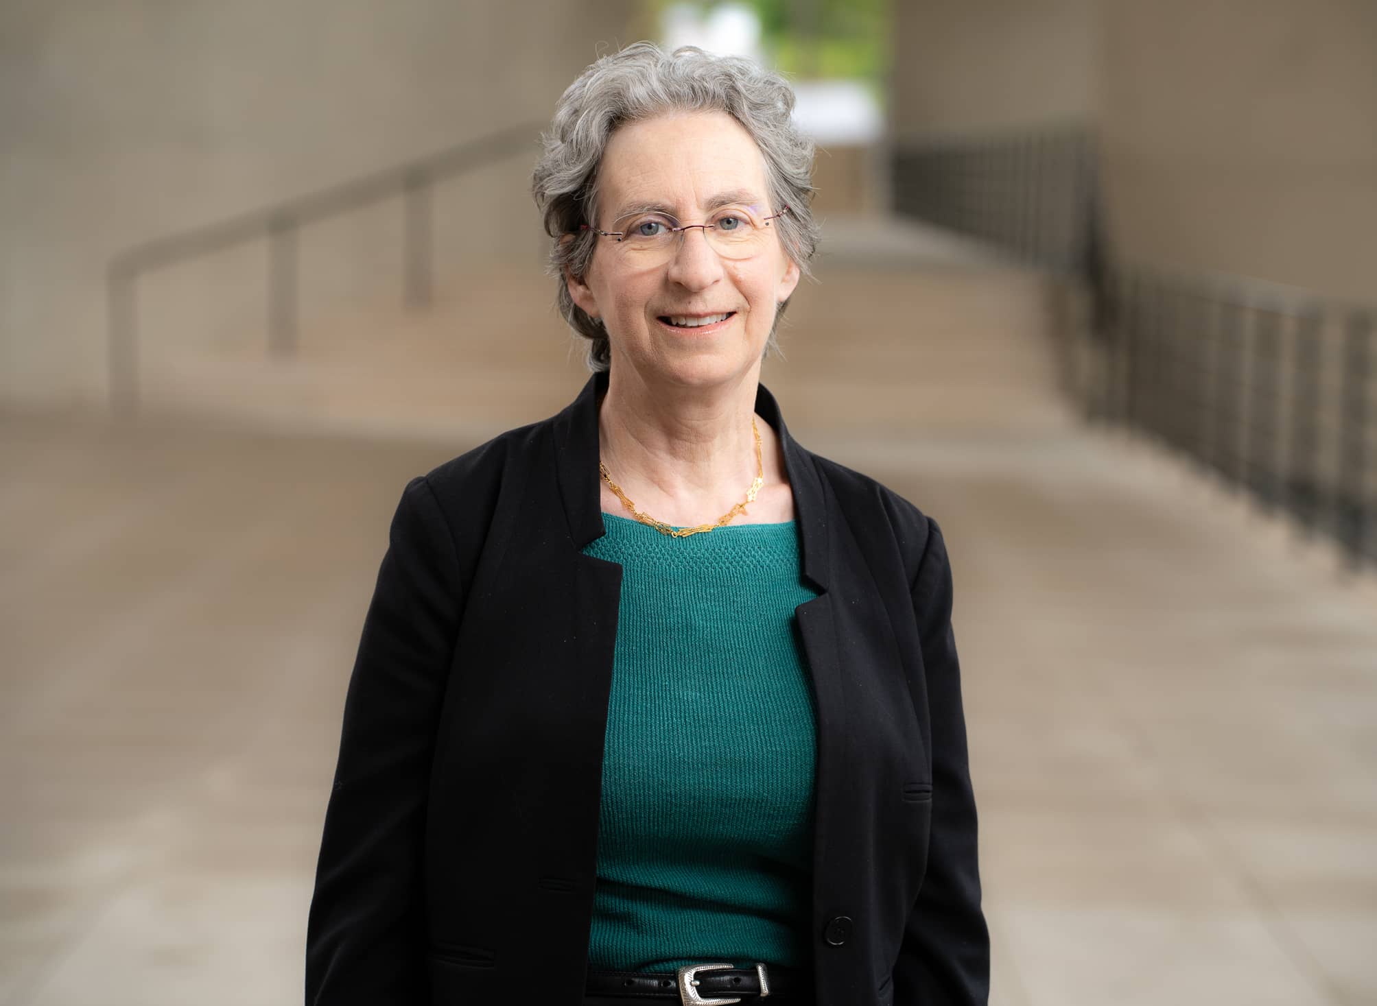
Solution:
{"label": "entire blurred background of concrete walls, floor and railings around the woman", "polygon": [[804,445],[942,522],[991,1002],[1377,1000],[1370,0],[0,3],[0,1006],[295,1002],[405,482],[587,377],[598,55],[796,83]]}

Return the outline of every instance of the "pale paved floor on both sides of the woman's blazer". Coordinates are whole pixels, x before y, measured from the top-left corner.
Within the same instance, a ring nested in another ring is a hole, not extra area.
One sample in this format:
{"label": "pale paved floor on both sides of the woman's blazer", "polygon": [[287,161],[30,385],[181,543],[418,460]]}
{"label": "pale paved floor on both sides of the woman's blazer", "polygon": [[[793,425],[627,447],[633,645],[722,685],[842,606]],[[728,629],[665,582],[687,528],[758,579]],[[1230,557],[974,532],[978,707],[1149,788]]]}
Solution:
{"label": "pale paved floor on both sides of the woman's blazer", "polygon": [[[994,1003],[1377,1002],[1370,581],[1115,436],[800,438],[946,531]],[[0,1003],[300,1002],[387,520],[464,446],[0,421]]]}

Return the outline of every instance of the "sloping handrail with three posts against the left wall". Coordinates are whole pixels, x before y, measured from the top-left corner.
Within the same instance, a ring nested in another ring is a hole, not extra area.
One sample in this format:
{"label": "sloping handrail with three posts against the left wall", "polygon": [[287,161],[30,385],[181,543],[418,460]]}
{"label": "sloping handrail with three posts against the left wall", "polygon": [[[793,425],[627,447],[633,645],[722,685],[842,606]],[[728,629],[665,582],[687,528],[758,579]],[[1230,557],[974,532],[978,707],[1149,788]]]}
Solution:
{"label": "sloping handrail with three posts against the left wall", "polygon": [[397,195],[402,197],[403,303],[410,310],[431,301],[434,268],[435,184],[530,149],[543,124],[526,124],[460,143],[448,150],[315,193],[193,227],[116,255],[106,270],[109,394],[116,416],[139,407],[139,278],[190,259],[255,241],[267,248],[264,286],[269,351],[282,359],[297,348],[297,235],[308,224]]}

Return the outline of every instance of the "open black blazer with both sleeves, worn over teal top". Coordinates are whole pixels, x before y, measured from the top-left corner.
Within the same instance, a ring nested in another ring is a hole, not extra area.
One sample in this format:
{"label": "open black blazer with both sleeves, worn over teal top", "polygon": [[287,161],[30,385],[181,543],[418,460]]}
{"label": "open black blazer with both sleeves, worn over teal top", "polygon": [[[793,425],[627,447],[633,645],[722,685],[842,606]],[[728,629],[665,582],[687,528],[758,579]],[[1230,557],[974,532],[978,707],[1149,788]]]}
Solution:
{"label": "open black blazer with both sleeves, worn over teal top", "polygon": [[[603,534],[595,374],[558,416],[412,479],[344,706],[306,1000],[496,1006],[588,966],[621,567]],[[819,1006],[985,1003],[976,815],[952,572],[916,506],[800,447],[774,396],[821,595],[797,607],[817,707]],[[533,999],[534,1000],[534,999]]]}

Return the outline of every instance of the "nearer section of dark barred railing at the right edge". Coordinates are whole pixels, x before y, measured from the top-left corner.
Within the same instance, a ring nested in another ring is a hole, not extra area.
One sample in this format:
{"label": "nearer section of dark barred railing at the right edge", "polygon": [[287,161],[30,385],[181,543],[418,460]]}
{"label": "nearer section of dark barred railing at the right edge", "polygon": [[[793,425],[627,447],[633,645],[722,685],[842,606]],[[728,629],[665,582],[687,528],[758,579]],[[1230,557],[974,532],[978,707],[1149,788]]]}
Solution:
{"label": "nearer section of dark barred railing at the right edge", "polygon": [[1120,267],[1092,411],[1377,561],[1377,307]]}

